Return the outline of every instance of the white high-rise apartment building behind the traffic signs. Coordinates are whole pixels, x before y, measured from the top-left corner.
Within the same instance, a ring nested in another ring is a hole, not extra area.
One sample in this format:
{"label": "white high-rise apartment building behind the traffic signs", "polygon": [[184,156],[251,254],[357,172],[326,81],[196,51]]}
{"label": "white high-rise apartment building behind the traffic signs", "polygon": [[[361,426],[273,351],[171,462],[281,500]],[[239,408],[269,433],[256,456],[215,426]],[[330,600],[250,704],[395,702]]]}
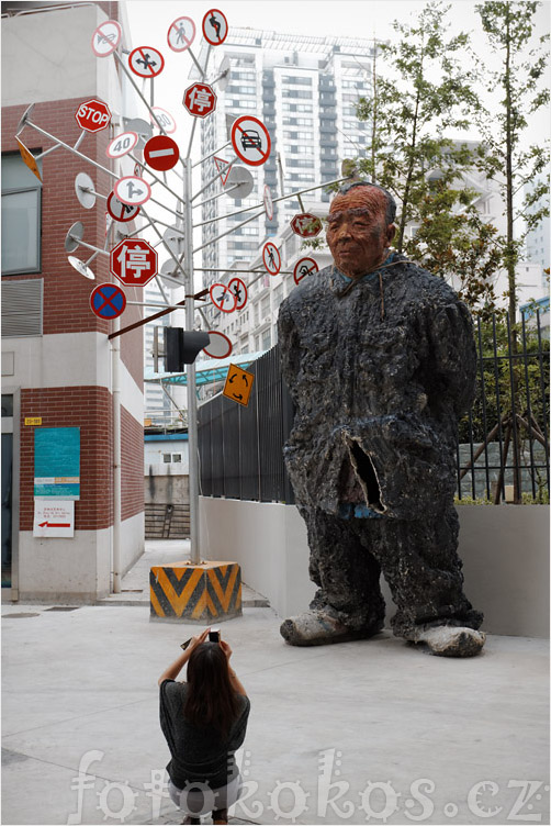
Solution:
{"label": "white high-rise apartment building behind the traffic signs", "polygon": [[[209,200],[218,191],[217,183],[207,187],[202,194],[205,202],[201,219],[204,222],[202,244],[207,245],[202,264],[205,286],[227,281],[238,275],[236,269],[247,269],[258,259],[262,244],[268,238],[279,238],[302,208],[296,198],[280,201],[274,204],[272,219],[262,214],[209,244],[241,223],[248,213],[222,216],[259,203],[265,185],[276,199],[281,197],[282,186],[286,193],[333,181],[340,177],[342,158],[357,157],[364,152],[369,123],[358,120],[356,105],[361,97],[370,94],[373,43],[363,38],[232,29],[227,41],[214,53],[212,75],[218,74],[223,60],[229,60],[229,82],[224,90],[216,89],[216,110],[202,123],[201,156],[215,153],[229,160],[232,149],[216,150],[227,143],[233,121],[247,114],[258,118],[268,129],[271,153],[266,164],[248,167],[255,186],[247,199]],[[216,165],[211,157],[202,165],[202,186],[215,176]],[[303,196],[304,208],[314,214],[326,213],[328,201],[329,193],[322,189]],[[290,241],[289,244],[299,249],[300,239],[294,238],[296,243]],[[282,252],[286,267],[285,250]],[[257,264],[261,268],[261,259]],[[226,268],[229,268],[227,272]],[[234,271],[229,275],[230,269]],[[243,278],[246,282],[252,280],[246,275]],[[224,319],[214,306],[209,309],[210,321],[216,328],[227,331],[234,324],[229,337],[236,351],[263,350],[274,344],[273,330],[269,331],[273,324],[267,321],[262,325],[258,319],[261,314],[262,320],[268,320],[268,303],[273,315],[281,301],[281,295],[276,293],[278,290],[284,293],[289,287],[282,286],[281,278],[267,276],[267,279],[262,278],[251,290],[249,300],[258,298],[258,302],[255,300],[241,311],[239,320]],[[262,330],[257,330],[259,324]]]}

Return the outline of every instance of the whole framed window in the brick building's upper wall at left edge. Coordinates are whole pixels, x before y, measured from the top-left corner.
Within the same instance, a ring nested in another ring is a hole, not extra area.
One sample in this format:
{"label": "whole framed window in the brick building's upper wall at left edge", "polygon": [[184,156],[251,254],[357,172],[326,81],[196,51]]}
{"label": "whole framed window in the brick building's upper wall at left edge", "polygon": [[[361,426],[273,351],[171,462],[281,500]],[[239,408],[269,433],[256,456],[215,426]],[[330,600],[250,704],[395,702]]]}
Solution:
{"label": "whole framed window in the brick building's upper wall at left edge", "polygon": [[[42,172],[42,165],[38,161]],[[2,156],[2,275],[40,272],[42,188],[21,156]]]}

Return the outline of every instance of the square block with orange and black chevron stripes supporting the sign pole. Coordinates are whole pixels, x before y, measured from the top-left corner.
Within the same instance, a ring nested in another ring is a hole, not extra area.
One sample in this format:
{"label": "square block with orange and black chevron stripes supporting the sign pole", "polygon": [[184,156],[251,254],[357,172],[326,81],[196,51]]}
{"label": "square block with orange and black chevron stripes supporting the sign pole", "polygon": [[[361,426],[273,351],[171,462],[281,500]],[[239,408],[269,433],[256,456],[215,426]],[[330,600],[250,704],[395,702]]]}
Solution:
{"label": "square block with orange and black chevron stripes supporting the sign pole", "polygon": [[237,562],[171,562],[149,572],[151,620],[213,623],[241,615],[241,569]]}

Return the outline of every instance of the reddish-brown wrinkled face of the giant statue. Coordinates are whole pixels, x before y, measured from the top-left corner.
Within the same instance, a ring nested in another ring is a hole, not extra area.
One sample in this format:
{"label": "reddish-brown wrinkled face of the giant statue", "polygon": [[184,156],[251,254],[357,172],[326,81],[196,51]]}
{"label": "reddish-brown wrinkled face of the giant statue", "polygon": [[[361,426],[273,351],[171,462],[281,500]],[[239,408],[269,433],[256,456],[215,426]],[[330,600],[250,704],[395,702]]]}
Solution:
{"label": "reddish-brown wrinkled face of the giant statue", "polygon": [[355,187],[333,199],[327,219],[327,244],[345,276],[361,278],[386,257],[394,224],[386,225],[384,194],[370,187]]}

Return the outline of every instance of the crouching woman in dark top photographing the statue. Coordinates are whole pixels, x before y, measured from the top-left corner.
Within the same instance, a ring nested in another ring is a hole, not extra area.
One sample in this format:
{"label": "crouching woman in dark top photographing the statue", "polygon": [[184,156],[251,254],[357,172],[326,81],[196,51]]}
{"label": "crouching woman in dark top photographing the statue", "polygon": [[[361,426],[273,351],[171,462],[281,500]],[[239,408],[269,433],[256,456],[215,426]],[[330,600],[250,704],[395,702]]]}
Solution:
{"label": "crouching woman in dark top photographing the statue", "polygon": [[[206,641],[210,628],[159,678],[160,727],[170,749],[167,766],[171,800],[201,821],[212,811],[214,823],[227,823],[227,810],[239,797],[240,775],[234,752],[245,739],[250,702],[229,666],[225,641]],[[175,682],[188,663],[188,681]]]}

